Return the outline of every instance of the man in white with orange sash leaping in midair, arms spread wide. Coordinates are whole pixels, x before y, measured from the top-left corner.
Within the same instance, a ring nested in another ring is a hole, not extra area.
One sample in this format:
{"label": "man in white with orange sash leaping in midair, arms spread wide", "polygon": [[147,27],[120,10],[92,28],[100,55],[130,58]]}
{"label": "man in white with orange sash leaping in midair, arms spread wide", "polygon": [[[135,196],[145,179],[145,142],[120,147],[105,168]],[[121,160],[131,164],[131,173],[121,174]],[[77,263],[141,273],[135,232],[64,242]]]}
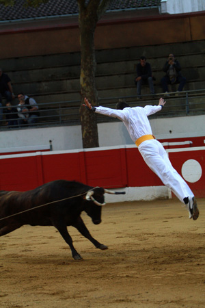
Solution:
{"label": "man in white with orange sash leaping in midair, arms spread wide", "polygon": [[86,98],[84,101],[85,105],[83,105],[87,110],[122,120],[146,164],[158,175],[165,186],[170,188],[186,205],[189,218],[196,220],[200,212],[195,196],[184,179],[173,168],[162,144],[152,135],[148,120],[148,116],[162,110],[166,102],[161,98],[157,106],[130,107],[125,101],[121,101],[117,103],[115,110],[102,106],[93,107]]}

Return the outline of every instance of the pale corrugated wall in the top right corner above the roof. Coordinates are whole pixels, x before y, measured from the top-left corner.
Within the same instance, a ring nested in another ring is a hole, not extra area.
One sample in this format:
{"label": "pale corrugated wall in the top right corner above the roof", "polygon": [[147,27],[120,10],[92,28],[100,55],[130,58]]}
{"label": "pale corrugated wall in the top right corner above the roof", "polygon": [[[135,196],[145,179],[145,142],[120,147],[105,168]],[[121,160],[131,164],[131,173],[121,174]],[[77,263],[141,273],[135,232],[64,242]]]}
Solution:
{"label": "pale corrugated wall in the top right corner above the roof", "polygon": [[205,10],[204,0],[161,0],[162,14],[181,14]]}

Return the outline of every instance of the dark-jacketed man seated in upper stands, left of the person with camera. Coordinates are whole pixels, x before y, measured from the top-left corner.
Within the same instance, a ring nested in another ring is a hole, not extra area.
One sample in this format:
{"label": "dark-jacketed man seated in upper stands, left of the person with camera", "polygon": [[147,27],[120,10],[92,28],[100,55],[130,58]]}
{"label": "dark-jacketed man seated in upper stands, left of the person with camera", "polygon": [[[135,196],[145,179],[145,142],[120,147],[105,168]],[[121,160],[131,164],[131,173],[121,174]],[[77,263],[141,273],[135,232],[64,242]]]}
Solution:
{"label": "dark-jacketed man seated in upper stands, left of the person with camera", "polygon": [[150,63],[146,62],[146,57],[143,55],[139,59],[139,64],[137,64],[137,77],[135,78],[135,84],[137,84],[137,99],[141,99],[142,84],[149,84],[150,92],[154,95],[152,68]]}

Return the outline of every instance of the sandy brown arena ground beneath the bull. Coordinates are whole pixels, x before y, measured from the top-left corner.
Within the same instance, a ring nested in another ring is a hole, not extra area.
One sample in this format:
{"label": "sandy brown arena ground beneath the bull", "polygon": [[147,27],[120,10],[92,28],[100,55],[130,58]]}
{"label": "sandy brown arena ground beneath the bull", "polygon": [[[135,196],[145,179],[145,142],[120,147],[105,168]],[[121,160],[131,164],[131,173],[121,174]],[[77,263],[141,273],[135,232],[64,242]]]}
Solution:
{"label": "sandy brown arena ground beneath the bull", "polygon": [[82,215],[100,251],[68,227],[83,261],[54,227],[22,227],[0,239],[1,308],[204,308],[205,199],[188,219],[178,200],[118,203],[102,223]]}

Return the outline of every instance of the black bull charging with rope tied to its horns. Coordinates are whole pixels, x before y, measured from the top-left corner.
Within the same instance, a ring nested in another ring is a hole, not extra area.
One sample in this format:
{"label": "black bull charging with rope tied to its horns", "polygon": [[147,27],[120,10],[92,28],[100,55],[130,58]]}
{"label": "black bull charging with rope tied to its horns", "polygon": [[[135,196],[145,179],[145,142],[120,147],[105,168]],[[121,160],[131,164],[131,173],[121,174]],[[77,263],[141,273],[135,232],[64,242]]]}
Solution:
{"label": "black bull charging with rope tied to its horns", "polygon": [[52,181],[27,192],[0,191],[0,236],[24,224],[54,226],[70,246],[72,257],[82,259],[67,230],[67,226],[72,226],[96,248],[105,250],[107,246],[92,238],[80,216],[85,211],[94,224],[100,224],[102,207],[99,205],[104,203],[105,192],[124,194],[65,180]]}

